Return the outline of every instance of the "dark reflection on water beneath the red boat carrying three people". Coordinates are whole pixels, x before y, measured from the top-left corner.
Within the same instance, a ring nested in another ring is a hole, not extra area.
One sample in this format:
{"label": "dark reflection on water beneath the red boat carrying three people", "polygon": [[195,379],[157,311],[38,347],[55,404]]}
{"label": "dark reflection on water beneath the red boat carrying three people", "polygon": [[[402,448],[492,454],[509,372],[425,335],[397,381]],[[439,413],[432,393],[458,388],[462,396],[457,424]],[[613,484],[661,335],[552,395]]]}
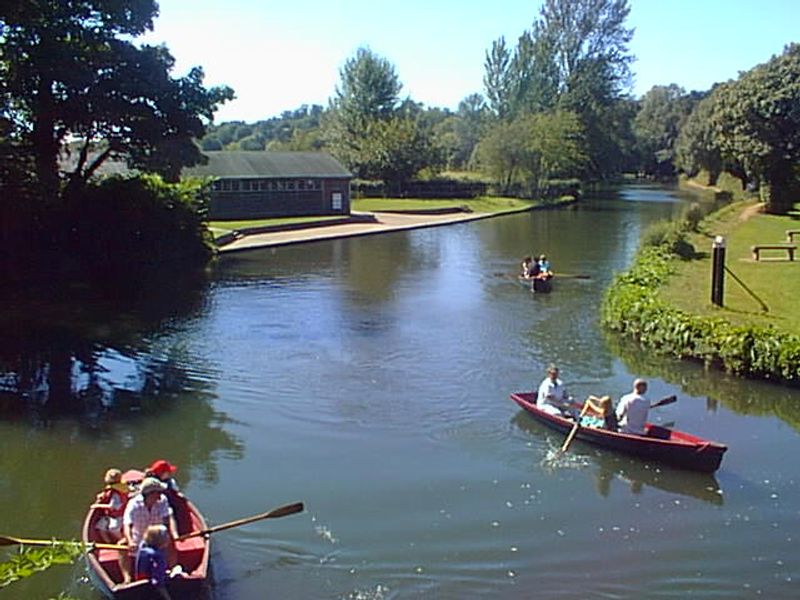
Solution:
{"label": "dark reflection on water beneath the red boat carrying three people", "polygon": [[[531,419],[524,411],[514,415],[511,422],[526,434],[538,438],[546,438],[553,433],[549,428]],[[559,438],[560,441],[562,440]],[[595,477],[597,493],[601,497],[609,497],[614,482],[617,481],[632,494],[641,494],[646,488],[653,488],[715,505],[723,504],[722,490],[713,475],[674,469],[596,448],[581,441],[576,441],[569,452],[572,456],[567,457],[562,465],[559,462],[562,458],[556,458],[557,449],[553,449],[548,452],[545,463],[549,468],[579,465],[581,469],[590,471]]]}

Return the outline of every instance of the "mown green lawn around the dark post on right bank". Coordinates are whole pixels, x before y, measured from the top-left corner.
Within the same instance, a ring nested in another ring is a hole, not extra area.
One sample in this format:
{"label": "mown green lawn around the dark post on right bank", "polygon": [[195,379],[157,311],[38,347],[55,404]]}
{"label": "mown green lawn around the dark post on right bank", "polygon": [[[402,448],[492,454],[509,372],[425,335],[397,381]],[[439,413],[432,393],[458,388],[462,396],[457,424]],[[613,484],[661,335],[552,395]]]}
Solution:
{"label": "mown green lawn around the dark post on right bank", "polygon": [[[703,233],[690,237],[703,258],[681,262],[678,273],[662,289],[664,298],[689,313],[715,315],[737,324],[772,324],[789,333],[800,334],[800,260],[786,259],[785,252],[751,257],[754,244],[786,241],[787,229],[800,228],[800,220],[763,213],[745,215],[755,202],[737,202],[703,225]],[[711,304],[711,244],[714,235],[726,240],[726,266],[767,307],[726,273],[724,307]],[[795,238],[798,239],[798,238]]]}

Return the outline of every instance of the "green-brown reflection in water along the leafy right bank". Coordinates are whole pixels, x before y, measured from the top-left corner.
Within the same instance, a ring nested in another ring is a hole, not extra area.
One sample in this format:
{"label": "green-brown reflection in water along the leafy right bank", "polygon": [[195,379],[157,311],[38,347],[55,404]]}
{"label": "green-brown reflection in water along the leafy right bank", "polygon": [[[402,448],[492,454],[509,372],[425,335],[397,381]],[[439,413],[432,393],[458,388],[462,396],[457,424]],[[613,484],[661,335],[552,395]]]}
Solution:
{"label": "green-brown reflection in water along the leafy right bank", "polygon": [[626,368],[644,377],[659,377],[692,396],[706,396],[709,409],[717,403],[746,415],[775,415],[800,430],[800,390],[741,379],[697,362],[679,361],[644,350],[635,342],[606,334],[609,349]]}

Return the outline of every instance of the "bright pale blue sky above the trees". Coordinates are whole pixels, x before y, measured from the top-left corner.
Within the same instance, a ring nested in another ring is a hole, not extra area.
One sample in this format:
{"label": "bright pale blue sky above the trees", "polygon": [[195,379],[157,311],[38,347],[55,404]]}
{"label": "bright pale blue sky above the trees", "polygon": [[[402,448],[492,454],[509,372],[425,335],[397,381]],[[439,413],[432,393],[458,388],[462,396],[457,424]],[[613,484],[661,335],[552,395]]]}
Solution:
{"label": "bright pale blue sky above the trees", "polygon": [[[216,121],[248,122],[303,104],[327,105],[339,70],[360,46],[394,64],[403,96],[455,109],[483,92],[486,50],[512,44],[539,13],[524,0],[160,0],[145,41],[166,43],[176,75],[200,65],[206,83],[237,99]],[[633,93],[715,82],[800,42],[800,0],[630,0]]]}

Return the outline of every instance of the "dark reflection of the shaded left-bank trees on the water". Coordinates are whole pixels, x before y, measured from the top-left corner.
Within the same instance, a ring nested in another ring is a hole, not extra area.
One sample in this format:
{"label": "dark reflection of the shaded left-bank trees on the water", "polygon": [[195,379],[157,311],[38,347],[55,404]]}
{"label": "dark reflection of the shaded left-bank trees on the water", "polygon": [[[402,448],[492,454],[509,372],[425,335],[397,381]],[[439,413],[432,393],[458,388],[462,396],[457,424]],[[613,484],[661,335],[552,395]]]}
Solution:
{"label": "dark reflection of the shaded left-bank trees on the water", "polygon": [[14,290],[0,307],[0,415],[96,418],[186,389],[181,357],[153,350],[165,328],[199,310],[205,287],[187,276]]}

